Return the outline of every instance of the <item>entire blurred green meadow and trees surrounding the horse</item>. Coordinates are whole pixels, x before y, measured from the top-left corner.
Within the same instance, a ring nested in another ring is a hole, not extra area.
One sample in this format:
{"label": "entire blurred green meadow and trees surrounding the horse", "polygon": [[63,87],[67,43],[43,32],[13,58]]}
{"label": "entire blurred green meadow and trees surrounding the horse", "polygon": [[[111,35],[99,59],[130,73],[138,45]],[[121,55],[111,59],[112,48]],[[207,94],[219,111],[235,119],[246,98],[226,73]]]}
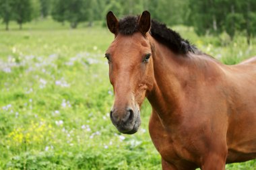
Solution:
{"label": "entire blurred green meadow and trees surrounding the horse", "polygon": [[255,0],[0,0],[0,169],[161,169],[147,100],[136,134],[109,119],[110,10],[148,10],[226,65],[256,55]]}

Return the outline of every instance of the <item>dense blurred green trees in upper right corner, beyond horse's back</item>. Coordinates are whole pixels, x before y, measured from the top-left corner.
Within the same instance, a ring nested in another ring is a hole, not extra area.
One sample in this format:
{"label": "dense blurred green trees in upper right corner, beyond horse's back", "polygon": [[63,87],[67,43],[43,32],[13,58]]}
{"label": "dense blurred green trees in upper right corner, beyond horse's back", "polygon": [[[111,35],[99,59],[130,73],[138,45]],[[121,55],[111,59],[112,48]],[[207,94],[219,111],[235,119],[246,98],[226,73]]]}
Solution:
{"label": "dense blurred green trees in upper right corner, beyond horse's back", "polygon": [[198,35],[227,32],[233,39],[236,32],[246,32],[247,42],[250,42],[255,32],[256,1],[191,0],[189,8],[191,15],[187,25],[193,26]]}

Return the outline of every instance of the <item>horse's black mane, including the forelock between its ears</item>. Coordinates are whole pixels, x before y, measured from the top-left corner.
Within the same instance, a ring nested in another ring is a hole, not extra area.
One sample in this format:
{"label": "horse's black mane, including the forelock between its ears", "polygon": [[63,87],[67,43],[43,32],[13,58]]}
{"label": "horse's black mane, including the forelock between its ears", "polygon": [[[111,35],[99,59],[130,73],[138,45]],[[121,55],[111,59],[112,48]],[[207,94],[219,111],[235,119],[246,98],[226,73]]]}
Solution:
{"label": "horse's black mane, including the forelock between its ears", "polygon": [[[119,33],[131,35],[138,30],[139,16],[126,16],[119,20]],[[191,45],[188,40],[181,38],[180,34],[170,30],[165,24],[151,20],[150,34],[153,38],[165,44],[173,52],[187,54],[187,52],[197,52],[197,48]]]}

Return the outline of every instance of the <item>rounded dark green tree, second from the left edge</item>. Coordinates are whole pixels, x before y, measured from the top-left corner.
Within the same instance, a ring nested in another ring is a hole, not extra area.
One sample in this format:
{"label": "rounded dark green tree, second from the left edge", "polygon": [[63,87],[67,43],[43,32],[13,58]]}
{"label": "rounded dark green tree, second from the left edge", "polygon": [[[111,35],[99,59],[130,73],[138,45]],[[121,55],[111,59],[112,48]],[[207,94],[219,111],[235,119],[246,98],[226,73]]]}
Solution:
{"label": "rounded dark green tree, second from the left edge", "polygon": [[13,18],[20,25],[20,30],[22,30],[22,24],[32,20],[32,13],[31,0],[15,0],[13,3]]}

